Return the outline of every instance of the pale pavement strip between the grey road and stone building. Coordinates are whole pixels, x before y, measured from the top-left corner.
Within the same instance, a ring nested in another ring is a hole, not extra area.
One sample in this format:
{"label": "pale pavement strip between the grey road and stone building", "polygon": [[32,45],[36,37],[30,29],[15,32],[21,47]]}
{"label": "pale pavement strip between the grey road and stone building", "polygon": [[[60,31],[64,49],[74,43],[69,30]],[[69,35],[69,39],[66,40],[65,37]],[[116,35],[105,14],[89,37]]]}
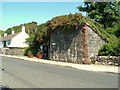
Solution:
{"label": "pale pavement strip between the grey road and stone building", "polygon": [[74,64],[74,63],[68,63],[68,62],[58,62],[58,61],[51,61],[51,60],[45,60],[45,59],[38,59],[35,57],[28,58],[27,56],[12,56],[12,55],[3,55],[3,54],[0,54],[0,56],[17,58],[20,60],[26,60],[26,61],[32,61],[32,62],[38,62],[38,63],[44,63],[44,64],[52,64],[52,65],[71,67],[71,68],[87,70],[87,71],[107,72],[107,73],[115,73],[115,74],[120,73],[118,66],[95,65],[95,64],[90,64],[90,65]]}

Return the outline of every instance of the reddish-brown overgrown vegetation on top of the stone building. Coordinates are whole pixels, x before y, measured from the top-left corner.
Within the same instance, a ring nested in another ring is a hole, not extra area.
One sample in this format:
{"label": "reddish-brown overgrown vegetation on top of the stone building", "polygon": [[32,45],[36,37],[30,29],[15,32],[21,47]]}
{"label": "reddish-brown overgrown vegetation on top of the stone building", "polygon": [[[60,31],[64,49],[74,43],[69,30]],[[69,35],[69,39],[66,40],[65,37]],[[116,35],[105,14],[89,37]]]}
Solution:
{"label": "reddish-brown overgrown vegetation on top of the stone building", "polygon": [[85,24],[85,18],[82,16],[82,14],[69,14],[54,17],[53,19],[49,20],[47,24],[51,30],[58,28],[62,31],[67,31],[70,29],[74,30],[75,28],[77,29]]}

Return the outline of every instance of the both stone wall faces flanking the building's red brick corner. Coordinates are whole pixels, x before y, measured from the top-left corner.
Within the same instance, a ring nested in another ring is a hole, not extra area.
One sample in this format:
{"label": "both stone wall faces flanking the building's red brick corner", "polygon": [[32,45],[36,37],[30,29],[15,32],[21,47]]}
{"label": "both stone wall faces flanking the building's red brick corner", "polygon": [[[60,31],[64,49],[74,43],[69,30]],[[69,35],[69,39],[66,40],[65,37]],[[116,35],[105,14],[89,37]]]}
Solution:
{"label": "both stone wall faces flanking the building's red brick corner", "polygon": [[[98,49],[105,42],[86,25],[88,57],[98,55]],[[84,55],[84,29],[61,31],[54,30],[50,37],[50,59],[73,63],[82,63]]]}

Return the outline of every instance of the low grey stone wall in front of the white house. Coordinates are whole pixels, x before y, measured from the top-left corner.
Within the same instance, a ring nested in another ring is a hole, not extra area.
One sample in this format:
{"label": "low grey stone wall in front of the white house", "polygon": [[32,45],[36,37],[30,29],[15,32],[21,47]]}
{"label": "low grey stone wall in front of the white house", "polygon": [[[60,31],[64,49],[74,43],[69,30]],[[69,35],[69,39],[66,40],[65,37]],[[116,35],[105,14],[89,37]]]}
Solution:
{"label": "low grey stone wall in front of the white house", "polygon": [[23,56],[25,53],[24,49],[6,49],[5,54],[6,55],[17,55],[17,56]]}

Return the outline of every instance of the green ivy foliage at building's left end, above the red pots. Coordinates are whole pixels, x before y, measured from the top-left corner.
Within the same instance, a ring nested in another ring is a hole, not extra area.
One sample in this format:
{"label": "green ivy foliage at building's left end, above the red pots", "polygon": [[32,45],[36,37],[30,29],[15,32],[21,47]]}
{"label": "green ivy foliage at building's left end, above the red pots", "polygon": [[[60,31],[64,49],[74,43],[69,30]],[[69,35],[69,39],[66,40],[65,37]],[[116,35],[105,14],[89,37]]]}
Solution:
{"label": "green ivy foliage at building's left end, above the red pots", "polygon": [[30,34],[29,38],[26,39],[29,47],[26,49],[25,55],[27,55],[28,52],[32,52],[33,55],[38,53],[40,44],[44,44],[49,40],[50,35],[48,35],[48,30],[49,27],[46,23],[36,27],[36,32]]}

